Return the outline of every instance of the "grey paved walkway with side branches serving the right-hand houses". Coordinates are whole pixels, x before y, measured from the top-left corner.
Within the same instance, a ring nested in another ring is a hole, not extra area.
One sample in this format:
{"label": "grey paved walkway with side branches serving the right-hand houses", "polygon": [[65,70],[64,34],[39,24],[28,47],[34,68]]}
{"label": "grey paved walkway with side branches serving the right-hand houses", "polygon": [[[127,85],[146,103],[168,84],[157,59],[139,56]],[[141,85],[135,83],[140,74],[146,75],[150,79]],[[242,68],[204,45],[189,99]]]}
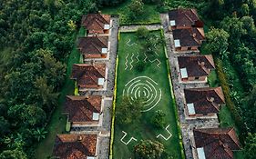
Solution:
{"label": "grey paved walkway with side branches serving the right-hand houses", "polygon": [[190,159],[193,158],[192,155],[192,147],[190,141],[190,135],[194,127],[201,128],[201,127],[218,127],[219,121],[218,118],[214,119],[194,119],[194,120],[187,120],[185,118],[184,108],[185,108],[185,99],[184,99],[184,88],[195,88],[195,87],[208,87],[207,83],[179,83],[179,75],[177,71],[178,65],[178,56],[181,55],[198,55],[198,53],[194,52],[182,52],[177,53],[174,51],[174,44],[173,44],[173,35],[172,32],[169,31],[169,16],[168,14],[161,14],[161,23],[164,29],[164,35],[167,45],[167,52],[169,55],[169,65],[170,65],[170,72],[171,72],[171,80],[173,84],[173,90],[176,97],[176,103],[178,106],[178,114],[179,114],[179,123],[182,133],[182,141],[184,145],[184,150],[186,154],[186,158]]}

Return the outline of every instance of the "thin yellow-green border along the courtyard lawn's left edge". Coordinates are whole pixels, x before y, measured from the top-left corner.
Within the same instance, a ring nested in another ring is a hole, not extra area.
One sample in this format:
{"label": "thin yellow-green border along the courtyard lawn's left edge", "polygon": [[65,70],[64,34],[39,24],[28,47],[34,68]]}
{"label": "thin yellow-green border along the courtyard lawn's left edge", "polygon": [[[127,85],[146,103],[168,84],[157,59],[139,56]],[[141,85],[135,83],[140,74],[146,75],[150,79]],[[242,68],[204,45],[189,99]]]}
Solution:
{"label": "thin yellow-green border along the courtyard lawn's left edge", "polygon": [[110,145],[109,145],[109,159],[113,158],[113,143],[114,143],[114,130],[115,130],[115,118],[116,118],[116,101],[117,101],[117,86],[118,86],[118,55],[116,57],[116,68],[115,68],[115,89],[114,99],[112,107],[112,121],[111,121],[111,134],[110,134]]}

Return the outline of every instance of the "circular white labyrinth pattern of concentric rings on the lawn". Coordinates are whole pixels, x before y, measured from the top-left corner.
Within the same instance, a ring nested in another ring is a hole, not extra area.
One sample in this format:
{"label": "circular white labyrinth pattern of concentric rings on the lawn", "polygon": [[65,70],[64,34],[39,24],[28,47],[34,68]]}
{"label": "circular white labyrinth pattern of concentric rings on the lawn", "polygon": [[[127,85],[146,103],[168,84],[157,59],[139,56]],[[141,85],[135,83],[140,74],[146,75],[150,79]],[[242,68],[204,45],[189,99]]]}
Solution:
{"label": "circular white labyrinth pattern of concentric rings on the lawn", "polygon": [[125,85],[123,95],[128,95],[131,104],[140,98],[144,106],[142,112],[147,112],[159,104],[162,93],[158,85],[148,76],[138,76]]}

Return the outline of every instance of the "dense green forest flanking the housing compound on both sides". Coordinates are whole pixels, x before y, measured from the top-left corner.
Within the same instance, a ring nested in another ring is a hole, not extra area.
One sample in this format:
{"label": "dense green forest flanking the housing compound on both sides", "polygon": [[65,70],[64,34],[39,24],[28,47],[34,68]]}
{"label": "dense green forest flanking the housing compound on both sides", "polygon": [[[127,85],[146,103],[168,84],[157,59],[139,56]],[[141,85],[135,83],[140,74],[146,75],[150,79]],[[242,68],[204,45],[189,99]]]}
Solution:
{"label": "dense green forest flanking the housing compound on both sides", "polygon": [[[42,139],[65,82],[67,57],[76,41],[81,15],[124,1],[1,1],[0,158],[32,158],[31,145]],[[213,26],[205,47],[223,63],[235,117],[241,122],[242,134],[249,134],[245,149],[251,153],[248,156],[255,156],[256,0],[143,2],[161,4],[165,9],[197,7],[206,24]]]}

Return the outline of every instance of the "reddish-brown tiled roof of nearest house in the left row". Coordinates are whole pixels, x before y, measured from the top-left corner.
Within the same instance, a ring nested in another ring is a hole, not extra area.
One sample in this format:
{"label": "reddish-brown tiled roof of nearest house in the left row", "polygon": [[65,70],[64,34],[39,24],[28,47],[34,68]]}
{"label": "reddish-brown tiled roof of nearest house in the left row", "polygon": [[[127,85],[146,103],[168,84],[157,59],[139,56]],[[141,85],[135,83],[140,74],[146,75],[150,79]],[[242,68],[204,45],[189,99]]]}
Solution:
{"label": "reddish-brown tiled roof of nearest house in the left row", "polygon": [[87,159],[95,156],[97,134],[57,134],[53,154],[61,159]]}

